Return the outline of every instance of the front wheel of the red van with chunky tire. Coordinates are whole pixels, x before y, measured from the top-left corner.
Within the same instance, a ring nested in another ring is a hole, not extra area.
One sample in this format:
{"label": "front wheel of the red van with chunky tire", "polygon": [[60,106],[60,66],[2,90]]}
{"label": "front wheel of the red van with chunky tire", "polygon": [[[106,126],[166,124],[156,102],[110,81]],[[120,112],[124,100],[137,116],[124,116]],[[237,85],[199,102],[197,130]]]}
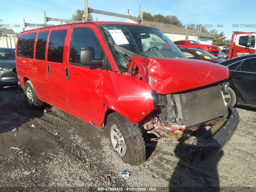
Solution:
{"label": "front wheel of the red van with chunky tire", "polygon": [[114,112],[108,115],[107,128],[110,143],[124,162],[138,165],[145,161],[146,146],[138,125]]}

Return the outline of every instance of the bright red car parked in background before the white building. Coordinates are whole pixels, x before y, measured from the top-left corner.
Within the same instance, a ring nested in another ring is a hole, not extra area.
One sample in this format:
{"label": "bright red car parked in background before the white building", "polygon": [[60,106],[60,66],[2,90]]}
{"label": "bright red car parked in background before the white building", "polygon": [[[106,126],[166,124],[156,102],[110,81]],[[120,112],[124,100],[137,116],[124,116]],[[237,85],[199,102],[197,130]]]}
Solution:
{"label": "bright red car parked in background before the white building", "polygon": [[179,48],[200,48],[204,51],[207,51],[209,52],[210,54],[213,54],[215,56],[218,55],[218,52],[220,51],[218,46],[216,45],[206,45],[206,44],[191,44],[190,43],[190,40],[179,40],[179,41],[174,41],[174,44],[176,42],[180,42],[180,41],[184,41],[187,43],[187,45],[180,45],[180,44],[177,44],[177,46],[179,46]]}

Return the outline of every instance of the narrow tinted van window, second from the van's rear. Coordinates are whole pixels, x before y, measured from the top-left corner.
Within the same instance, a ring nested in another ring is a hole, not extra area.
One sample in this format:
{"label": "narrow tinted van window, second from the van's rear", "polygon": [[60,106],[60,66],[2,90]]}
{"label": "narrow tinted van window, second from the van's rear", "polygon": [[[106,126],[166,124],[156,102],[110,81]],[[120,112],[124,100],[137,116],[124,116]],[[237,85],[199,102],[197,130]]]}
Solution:
{"label": "narrow tinted van window, second from the van's rear", "polygon": [[40,32],[37,37],[36,42],[36,59],[37,60],[45,60],[45,48],[46,48],[46,42],[49,32],[44,31]]}

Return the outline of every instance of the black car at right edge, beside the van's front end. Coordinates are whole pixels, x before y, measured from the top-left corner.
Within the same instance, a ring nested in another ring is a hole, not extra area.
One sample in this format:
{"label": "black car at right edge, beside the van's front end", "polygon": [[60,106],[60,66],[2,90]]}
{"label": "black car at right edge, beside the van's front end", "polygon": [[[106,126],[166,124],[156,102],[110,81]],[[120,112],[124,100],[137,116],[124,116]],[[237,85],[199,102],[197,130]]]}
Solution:
{"label": "black car at right edge, beside the van's front end", "polygon": [[230,88],[224,95],[229,105],[235,104],[256,108],[256,54],[232,58],[218,64],[230,70]]}

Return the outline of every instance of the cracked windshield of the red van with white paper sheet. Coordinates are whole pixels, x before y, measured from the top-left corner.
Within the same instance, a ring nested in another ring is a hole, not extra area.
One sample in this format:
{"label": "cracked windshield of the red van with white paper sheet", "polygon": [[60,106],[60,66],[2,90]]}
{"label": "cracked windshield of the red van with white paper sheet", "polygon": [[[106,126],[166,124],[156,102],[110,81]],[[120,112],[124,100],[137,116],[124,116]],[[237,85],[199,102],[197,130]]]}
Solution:
{"label": "cracked windshield of the red van with white paper sheet", "polygon": [[127,70],[130,57],[186,58],[160,30],[145,26],[106,24],[100,26],[120,70]]}

